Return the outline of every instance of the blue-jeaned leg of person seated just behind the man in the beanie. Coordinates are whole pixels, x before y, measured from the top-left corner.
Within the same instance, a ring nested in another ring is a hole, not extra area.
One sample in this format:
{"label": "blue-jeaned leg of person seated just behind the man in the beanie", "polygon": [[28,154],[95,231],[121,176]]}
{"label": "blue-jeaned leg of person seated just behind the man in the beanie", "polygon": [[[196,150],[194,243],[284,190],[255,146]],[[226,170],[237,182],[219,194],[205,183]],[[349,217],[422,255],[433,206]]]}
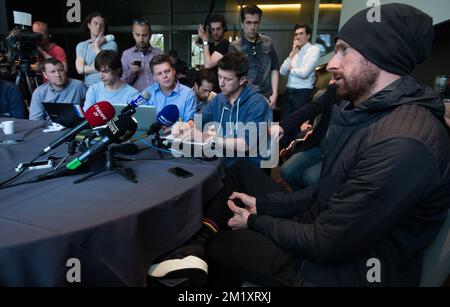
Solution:
{"label": "blue-jeaned leg of person seated just behind the man in the beanie", "polygon": [[281,177],[295,191],[316,184],[322,171],[322,148],[298,152],[281,166]]}

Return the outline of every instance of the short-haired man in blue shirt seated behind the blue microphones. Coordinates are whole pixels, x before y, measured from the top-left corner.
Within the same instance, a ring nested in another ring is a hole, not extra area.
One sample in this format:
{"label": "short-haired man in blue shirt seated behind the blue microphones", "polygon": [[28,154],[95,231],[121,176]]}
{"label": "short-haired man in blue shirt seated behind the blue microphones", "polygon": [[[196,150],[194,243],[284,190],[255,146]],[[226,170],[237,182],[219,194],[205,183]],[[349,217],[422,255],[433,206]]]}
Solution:
{"label": "short-haired man in blue shirt seated behind the blue microphones", "polygon": [[177,81],[170,57],[163,54],[153,57],[150,69],[156,83],[145,90],[152,95],[147,105],[155,106],[157,112],[165,106],[176,105],[183,122],[194,127],[195,95],[190,88]]}

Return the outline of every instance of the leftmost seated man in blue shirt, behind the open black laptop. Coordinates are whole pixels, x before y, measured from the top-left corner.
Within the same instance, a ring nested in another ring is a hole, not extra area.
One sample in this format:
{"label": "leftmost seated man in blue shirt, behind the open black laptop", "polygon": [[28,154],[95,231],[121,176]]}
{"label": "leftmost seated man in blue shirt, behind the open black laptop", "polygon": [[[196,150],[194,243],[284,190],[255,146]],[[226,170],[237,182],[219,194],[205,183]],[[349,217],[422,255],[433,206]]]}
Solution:
{"label": "leftmost seated man in blue shirt, behind the open black laptop", "polygon": [[43,102],[82,104],[86,87],[80,80],[67,78],[64,65],[55,58],[44,60],[42,74],[48,82],[39,86],[31,97],[30,120],[45,120]]}

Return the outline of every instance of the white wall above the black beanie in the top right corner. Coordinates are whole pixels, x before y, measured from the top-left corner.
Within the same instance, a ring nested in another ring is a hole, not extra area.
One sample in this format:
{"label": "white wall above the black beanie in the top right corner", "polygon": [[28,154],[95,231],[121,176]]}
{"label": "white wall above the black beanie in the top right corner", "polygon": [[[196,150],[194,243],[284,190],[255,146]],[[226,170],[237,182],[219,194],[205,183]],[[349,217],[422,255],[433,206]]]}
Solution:
{"label": "white wall above the black beanie in the top right corner", "polygon": [[[341,23],[342,27],[344,23],[350,19],[355,13],[368,7],[367,3],[373,3],[374,1],[368,0],[342,0],[342,13]],[[438,24],[450,19],[450,1],[449,0],[380,0],[381,4],[387,3],[404,3],[412,5],[419,10],[424,11],[431,17],[433,17],[434,24]],[[371,5],[369,5],[371,6]]]}

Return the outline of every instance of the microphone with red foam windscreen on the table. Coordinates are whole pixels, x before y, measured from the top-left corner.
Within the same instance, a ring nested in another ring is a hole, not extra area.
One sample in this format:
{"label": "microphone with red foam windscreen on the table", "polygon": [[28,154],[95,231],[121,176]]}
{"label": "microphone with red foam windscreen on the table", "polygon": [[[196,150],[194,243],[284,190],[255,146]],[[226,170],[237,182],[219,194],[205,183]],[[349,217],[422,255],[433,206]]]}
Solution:
{"label": "microphone with red foam windscreen on the table", "polygon": [[115,113],[116,111],[114,110],[114,107],[107,101],[101,101],[94,104],[84,113],[84,117],[86,118],[85,121],[81,122],[78,126],[72,128],[63,136],[53,141],[50,145],[42,150],[42,152],[39,154],[39,157],[45,155],[50,150],[57,148],[61,144],[74,139],[78,133],[85,129],[105,125],[114,117]]}

